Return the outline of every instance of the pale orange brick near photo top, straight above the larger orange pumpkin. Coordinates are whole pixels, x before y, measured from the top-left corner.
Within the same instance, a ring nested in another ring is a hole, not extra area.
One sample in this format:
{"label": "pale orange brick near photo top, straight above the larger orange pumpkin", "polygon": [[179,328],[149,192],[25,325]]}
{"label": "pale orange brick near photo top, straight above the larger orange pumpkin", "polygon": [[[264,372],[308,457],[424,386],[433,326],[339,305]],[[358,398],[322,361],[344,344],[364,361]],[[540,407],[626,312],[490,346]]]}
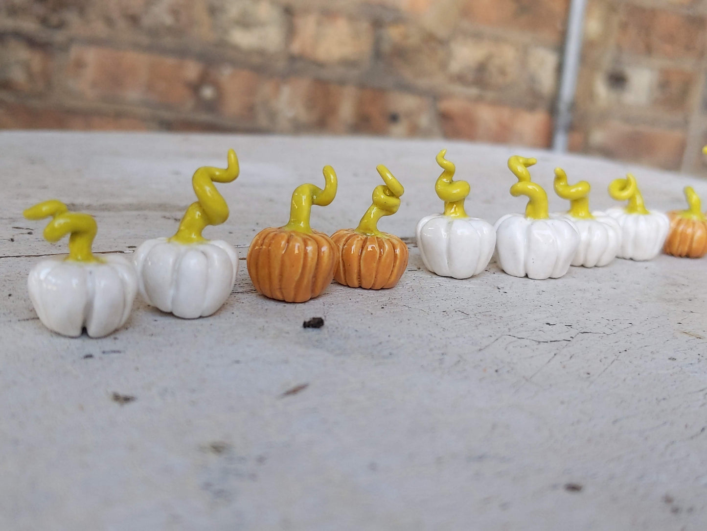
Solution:
{"label": "pale orange brick near photo top, straight above the larger orange pumpkin", "polygon": [[340,15],[298,14],[293,19],[292,55],[322,64],[367,64],[373,26]]}

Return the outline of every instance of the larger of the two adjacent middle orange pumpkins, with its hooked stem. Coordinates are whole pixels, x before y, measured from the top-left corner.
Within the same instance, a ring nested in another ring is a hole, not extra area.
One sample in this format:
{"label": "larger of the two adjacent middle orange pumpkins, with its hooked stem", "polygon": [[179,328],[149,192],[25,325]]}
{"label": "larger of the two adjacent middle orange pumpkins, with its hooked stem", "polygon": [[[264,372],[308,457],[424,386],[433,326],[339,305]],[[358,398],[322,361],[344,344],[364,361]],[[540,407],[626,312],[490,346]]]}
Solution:
{"label": "larger of the two adjacent middle orange pumpkins, with its hooked stem", "polygon": [[334,278],[337,246],[310,227],[312,205],[329,205],[337,195],[337,174],[324,168],[325,187],[298,186],[292,194],[290,221],[260,231],[250,244],[246,265],[255,289],[271,299],[305,302],[321,295]]}

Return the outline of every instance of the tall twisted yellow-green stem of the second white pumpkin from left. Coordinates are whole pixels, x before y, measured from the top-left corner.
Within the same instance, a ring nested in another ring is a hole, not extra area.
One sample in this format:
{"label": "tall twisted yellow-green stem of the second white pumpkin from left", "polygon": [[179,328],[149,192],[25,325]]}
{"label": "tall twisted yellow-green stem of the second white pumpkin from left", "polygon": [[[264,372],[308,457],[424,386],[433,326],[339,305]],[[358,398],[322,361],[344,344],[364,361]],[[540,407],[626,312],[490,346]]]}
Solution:
{"label": "tall twisted yellow-green stem of the second white pumpkin from left", "polygon": [[230,183],[238,177],[240,168],[238,156],[233,149],[228,150],[228,168],[212,168],[202,166],[194,172],[192,187],[197,195],[197,201],[187,208],[179,228],[169,241],[179,244],[198,244],[206,241],[201,232],[209,225],[220,225],[228,219],[228,204],[223,195],[218,192],[216,183]]}

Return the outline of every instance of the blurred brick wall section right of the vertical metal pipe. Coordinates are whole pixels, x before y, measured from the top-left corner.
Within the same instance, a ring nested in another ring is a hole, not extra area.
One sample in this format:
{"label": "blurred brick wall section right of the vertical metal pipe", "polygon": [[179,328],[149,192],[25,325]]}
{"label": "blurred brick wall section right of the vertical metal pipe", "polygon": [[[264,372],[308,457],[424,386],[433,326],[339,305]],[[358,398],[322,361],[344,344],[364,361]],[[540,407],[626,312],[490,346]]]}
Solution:
{"label": "blurred brick wall section right of the vertical metal pipe", "polygon": [[707,173],[707,2],[590,0],[572,149]]}

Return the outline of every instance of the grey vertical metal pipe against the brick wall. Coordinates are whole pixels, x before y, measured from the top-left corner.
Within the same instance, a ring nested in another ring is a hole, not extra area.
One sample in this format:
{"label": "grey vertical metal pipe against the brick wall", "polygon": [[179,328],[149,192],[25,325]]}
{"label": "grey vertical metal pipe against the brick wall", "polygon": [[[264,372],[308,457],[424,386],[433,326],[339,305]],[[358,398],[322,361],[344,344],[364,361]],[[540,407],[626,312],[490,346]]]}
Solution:
{"label": "grey vertical metal pipe against the brick wall", "polygon": [[557,93],[555,130],[552,137],[552,150],[554,152],[563,153],[567,151],[568,132],[572,125],[574,96],[577,88],[580,56],[582,54],[584,11],[586,6],[587,0],[571,0],[570,3],[565,50],[562,57],[560,88]]}

